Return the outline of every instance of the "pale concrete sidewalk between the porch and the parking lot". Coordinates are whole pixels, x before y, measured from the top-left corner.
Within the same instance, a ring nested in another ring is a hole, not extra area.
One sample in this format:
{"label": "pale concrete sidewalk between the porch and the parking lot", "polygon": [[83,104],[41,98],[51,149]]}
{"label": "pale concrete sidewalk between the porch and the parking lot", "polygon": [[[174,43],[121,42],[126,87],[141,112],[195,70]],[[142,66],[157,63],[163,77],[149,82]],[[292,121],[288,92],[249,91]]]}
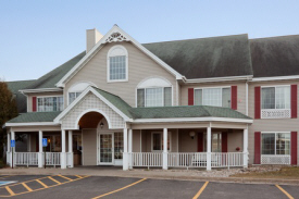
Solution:
{"label": "pale concrete sidewalk between the porch and the parking lot", "polygon": [[[207,171],[202,171],[207,173]],[[208,172],[209,173],[209,172]],[[61,170],[60,167],[38,169],[38,167],[15,167],[2,169],[0,175],[90,175],[90,176],[117,176],[117,177],[140,177],[158,179],[179,179],[179,181],[201,181],[201,182],[224,182],[242,184],[279,184],[299,185],[299,179],[274,179],[274,178],[245,178],[245,177],[215,177],[202,176],[201,171],[195,170],[145,170],[135,169],[123,171],[116,166],[83,166]]]}

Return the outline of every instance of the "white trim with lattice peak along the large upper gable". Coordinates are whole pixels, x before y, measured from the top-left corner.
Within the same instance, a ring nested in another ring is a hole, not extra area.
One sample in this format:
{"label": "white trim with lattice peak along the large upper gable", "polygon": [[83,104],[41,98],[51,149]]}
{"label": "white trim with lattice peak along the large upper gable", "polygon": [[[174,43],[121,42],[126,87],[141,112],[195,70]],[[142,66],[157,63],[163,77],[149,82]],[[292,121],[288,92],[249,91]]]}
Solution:
{"label": "white trim with lattice peak along the large upper gable", "polygon": [[163,62],[160,58],[154,55],[148,49],[146,49],[142,45],[136,41],[133,37],[126,34],[123,29],[121,29],[117,25],[114,25],[102,38],[99,42],[91,49],[89,52],[72,69],[66,73],[57,84],[57,87],[64,87],[65,83],[67,83],[107,42],[117,42],[117,41],[132,41],[139,50],[145,52],[149,58],[173,74],[176,79],[183,79],[183,75],[176,72],[169,64]]}

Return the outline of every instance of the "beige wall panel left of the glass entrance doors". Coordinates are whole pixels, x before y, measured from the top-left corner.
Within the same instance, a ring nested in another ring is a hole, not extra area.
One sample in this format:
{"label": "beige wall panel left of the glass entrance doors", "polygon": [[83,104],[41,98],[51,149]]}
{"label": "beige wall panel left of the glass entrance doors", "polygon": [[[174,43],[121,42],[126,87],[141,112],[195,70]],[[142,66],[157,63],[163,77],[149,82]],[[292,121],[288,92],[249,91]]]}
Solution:
{"label": "beige wall panel left of the glass entrance doors", "polygon": [[97,129],[83,129],[83,165],[97,165]]}

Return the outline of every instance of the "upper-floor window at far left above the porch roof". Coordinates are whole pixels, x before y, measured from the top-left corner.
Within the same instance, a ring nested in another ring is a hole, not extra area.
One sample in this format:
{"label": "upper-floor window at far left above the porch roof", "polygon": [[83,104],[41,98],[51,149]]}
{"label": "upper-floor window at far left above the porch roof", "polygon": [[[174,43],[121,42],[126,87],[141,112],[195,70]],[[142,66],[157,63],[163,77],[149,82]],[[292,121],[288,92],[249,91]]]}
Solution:
{"label": "upper-floor window at far left above the porch roof", "polygon": [[63,97],[40,97],[37,98],[38,112],[62,111]]}

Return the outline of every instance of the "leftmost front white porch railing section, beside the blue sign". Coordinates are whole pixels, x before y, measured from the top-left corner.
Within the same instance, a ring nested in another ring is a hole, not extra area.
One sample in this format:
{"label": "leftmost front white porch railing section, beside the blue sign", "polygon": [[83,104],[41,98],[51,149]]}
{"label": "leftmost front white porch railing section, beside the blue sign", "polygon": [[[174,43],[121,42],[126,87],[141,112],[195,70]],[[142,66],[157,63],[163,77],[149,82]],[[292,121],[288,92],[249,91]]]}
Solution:
{"label": "leftmost front white porch railing section, beside the blue sign", "polygon": [[15,165],[38,165],[38,152],[14,152]]}

